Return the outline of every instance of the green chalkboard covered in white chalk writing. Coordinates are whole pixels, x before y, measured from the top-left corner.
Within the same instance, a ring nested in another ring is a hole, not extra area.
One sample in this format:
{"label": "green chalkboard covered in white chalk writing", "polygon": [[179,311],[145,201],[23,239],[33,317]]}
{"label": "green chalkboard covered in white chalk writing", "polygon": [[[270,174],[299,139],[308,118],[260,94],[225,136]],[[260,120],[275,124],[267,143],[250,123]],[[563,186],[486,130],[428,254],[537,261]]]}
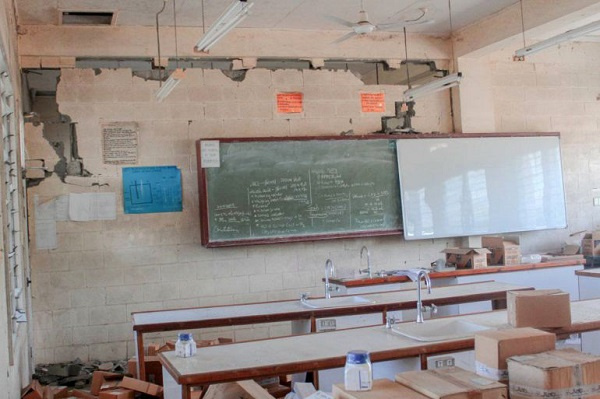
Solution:
{"label": "green chalkboard covered in white chalk writing", "polygon": [[203,245],[401,233],[394,140],[223,140],[210,168],[197,147]]}

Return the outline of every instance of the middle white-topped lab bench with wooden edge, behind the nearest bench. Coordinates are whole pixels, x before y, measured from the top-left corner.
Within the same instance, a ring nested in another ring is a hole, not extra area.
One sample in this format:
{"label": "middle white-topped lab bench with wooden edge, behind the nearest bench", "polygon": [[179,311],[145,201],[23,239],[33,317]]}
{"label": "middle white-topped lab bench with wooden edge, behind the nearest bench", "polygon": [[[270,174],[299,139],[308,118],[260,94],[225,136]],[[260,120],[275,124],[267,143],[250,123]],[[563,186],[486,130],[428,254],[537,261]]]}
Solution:
{"label": "middle white-topped lab bench with wooden edge, behind the nearest bench", "polygon": [[[532,288],[487,281],[436,287],[431,291],[431,294],[422,291],[422,295],[425,305],[434,303],[441,306],[478,301],[504,300],[506,299],[507,291],[527,289]],[[293,320],[310,320],[311,332],[315,332],[316,319],[368,313],[382,313],[383,323],[389,311],[414,309],[417,298],[415,291],[415,289],[407,289],[361,295],[361,297],[370,299],[374,303],[337,308],[309,309],[304,307],[299,300],[291,300],[133,313],[138,375],[141,379],[146,378],[143,341],[145,333]]]}

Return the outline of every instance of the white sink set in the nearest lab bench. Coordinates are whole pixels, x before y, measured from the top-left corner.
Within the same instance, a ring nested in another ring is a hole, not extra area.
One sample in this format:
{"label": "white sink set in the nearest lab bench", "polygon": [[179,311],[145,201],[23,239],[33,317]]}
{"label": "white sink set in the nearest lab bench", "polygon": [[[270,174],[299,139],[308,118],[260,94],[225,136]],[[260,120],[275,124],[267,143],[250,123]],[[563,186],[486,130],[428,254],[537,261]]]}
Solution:
{"label": "white sink set in the nearest lab bench", "polygon": [[444,341],[472,337],[476,332],[489,330],[490,327],[481,326],[465,320],[432,320],[424,323],[401,323],[393,326],[391,330],[415,341]]}

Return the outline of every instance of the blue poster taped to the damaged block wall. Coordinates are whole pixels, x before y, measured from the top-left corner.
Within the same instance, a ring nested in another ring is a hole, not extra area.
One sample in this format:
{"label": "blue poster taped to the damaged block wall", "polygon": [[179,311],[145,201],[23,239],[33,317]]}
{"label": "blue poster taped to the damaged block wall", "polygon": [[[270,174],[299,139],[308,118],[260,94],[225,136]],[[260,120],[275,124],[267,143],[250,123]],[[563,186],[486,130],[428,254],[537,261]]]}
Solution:
{"label": "blue poster taped to the damaged block wall", "polygon": [[123,168],[125,213],[181,212],[181,171],[176,166]]}

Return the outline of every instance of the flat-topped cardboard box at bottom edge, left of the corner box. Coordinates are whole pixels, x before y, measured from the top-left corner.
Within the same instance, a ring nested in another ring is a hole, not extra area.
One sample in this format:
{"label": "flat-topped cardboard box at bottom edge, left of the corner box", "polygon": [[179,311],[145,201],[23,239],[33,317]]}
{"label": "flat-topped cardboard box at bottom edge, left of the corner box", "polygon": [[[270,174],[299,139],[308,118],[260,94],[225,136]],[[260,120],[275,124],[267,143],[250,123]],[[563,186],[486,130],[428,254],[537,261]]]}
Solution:
{"label": "flat-topped cardboard box at bottom edge, left of the corner box", "polygon": [[506,399],[506,385],[458,367],[408,371],[396,382],[432,399]]}

